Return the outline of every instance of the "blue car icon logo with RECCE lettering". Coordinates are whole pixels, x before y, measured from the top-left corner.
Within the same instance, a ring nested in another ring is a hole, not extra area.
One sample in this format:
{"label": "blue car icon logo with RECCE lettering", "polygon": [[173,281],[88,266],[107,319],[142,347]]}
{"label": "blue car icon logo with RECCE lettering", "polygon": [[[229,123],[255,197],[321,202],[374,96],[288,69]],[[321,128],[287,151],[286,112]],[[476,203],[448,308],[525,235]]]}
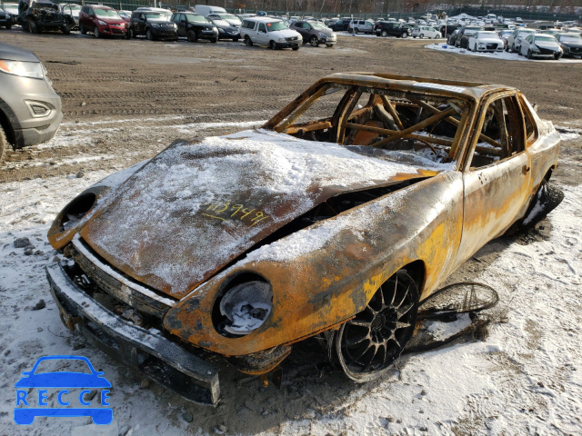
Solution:
{"label": "blue car icon logo with RECCE lettering", "polygon": [[[42,368],[39,369],[39,366],[45,367],[47,363],[52,366],[76,366],[83,371],[46,372],[42,371]],[[36,416],[69,418],[90,416],[98,425],[106,425],[113,421],[113,409],[106,407],[110,405],[108,401],[111,383],[105,379],[104,372],[95,371],[86,357],[41,357],[31,371],[23,372],[23,376],[15,383],[17,424],[32,424]],[[36,392],[29,391],[31,388]],[[99,389],[101,392],[98,398],[93,399],[95,394],[90,399],[87,398],[91,396],[92,390]],[[49,390],[52,391],[51,398],[56,398],[59,407],[49,407]]]}

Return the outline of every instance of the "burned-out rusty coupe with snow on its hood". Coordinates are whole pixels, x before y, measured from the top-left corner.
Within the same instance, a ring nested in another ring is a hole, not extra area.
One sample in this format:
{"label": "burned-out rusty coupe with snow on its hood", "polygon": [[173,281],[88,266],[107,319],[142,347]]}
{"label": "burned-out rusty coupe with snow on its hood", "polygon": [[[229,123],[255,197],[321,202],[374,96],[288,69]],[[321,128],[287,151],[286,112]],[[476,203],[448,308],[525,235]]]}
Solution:
{"label": "burned-out rusty coupe with snow on its hood", "polygon": [[515,88],[331,74],[260,129],[80,193],[48,233],[51,292],[69,329],[193,401],[218,401],[216,355],[265,374],[309,337],[373,380],[460,264],[539,219],[559,143]]}

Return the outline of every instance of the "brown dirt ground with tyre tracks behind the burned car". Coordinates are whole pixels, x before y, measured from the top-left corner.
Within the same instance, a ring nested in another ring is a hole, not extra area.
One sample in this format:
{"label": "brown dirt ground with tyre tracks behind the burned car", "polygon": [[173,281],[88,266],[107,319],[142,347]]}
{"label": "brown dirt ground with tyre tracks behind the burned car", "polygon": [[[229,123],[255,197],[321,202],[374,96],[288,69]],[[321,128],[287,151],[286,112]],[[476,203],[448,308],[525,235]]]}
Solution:
{"label": "brown dirt ground with tyre tracks behind the burned car", "polygon": [[[270,118],[318,78],[336,72],[508,84],[537,103],[543,118],[582,127],[582,64],[439,53],[427,50],[426,40],[340,35],[333,48],[272,52],[240,42],[151,43],[0,29],[0,41],[40,57],[65,114],[51,143],[6,154],[0,182],[125,168],[177,138],[243,130],[248,125],[236,123]],[[224,122],[235,124],[213,125]]]}

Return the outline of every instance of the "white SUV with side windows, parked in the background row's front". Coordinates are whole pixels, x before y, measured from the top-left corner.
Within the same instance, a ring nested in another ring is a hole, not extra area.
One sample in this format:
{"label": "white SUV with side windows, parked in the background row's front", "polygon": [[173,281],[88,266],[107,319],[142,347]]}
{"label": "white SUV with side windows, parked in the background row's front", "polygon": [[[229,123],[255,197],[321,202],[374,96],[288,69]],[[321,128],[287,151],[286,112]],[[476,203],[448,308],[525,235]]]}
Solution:
{"label": "white SUV with side windows, parked in the background row's front", "polygon": [[245,18],[240,27],[240,35],[247,47],[256,44],[266,45],[273,50],[280,48],[299,50],[303,44],[301,34],[287,28],[281,20],[267,16]]}

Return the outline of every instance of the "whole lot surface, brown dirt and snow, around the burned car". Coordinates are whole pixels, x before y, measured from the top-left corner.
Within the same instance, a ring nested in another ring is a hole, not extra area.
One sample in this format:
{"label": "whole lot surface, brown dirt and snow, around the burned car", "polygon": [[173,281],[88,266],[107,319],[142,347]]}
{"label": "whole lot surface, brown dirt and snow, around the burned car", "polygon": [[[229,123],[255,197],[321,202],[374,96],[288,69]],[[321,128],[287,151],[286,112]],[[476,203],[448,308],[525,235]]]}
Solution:
{"label": "whole lot surface, brown dirt and snow, around the burned car", "polygon": [[[0,367],[6,379],[0,390],[0,432],[86,434],[95,428],[90,420],[44,418],[34,428],[8,422],[20,372],[29,369],[33,357],[56,353],[85,353],[112,381],[115,422],[103,434],[582,430],[582,342],[577,334],[582,322],[582,64],[512,62],[430,50],[426,40],[342,34],[333,48],[304,45],[296,52],[242,42],[97,40],[76,32],[29,35],[15,28],[0,29],[0,41],[38,55],[65,114],[54,139],[6,153],[0,169]],[[499,293],[486,342],[409,355],[390,375],[363,385],[321,364],[325,356],[307,344],[284,364],[280,390],[262,388],[256,378],[225,368],[223,401],[212,409],[145,381],[61,325],[45,281],[44,266],[55,256],[45,234],[65,203],[177,138],[256,127],[317,79],[339,72],[515,86],[562,134],[554,180],[564,187],[564,203],[535,231],[487,244],[449,279],[486,282]],[[16,250],[15,238],[24,236],[42,253],[25,256]],[[32,312],[39,298],[46,308]]]}

